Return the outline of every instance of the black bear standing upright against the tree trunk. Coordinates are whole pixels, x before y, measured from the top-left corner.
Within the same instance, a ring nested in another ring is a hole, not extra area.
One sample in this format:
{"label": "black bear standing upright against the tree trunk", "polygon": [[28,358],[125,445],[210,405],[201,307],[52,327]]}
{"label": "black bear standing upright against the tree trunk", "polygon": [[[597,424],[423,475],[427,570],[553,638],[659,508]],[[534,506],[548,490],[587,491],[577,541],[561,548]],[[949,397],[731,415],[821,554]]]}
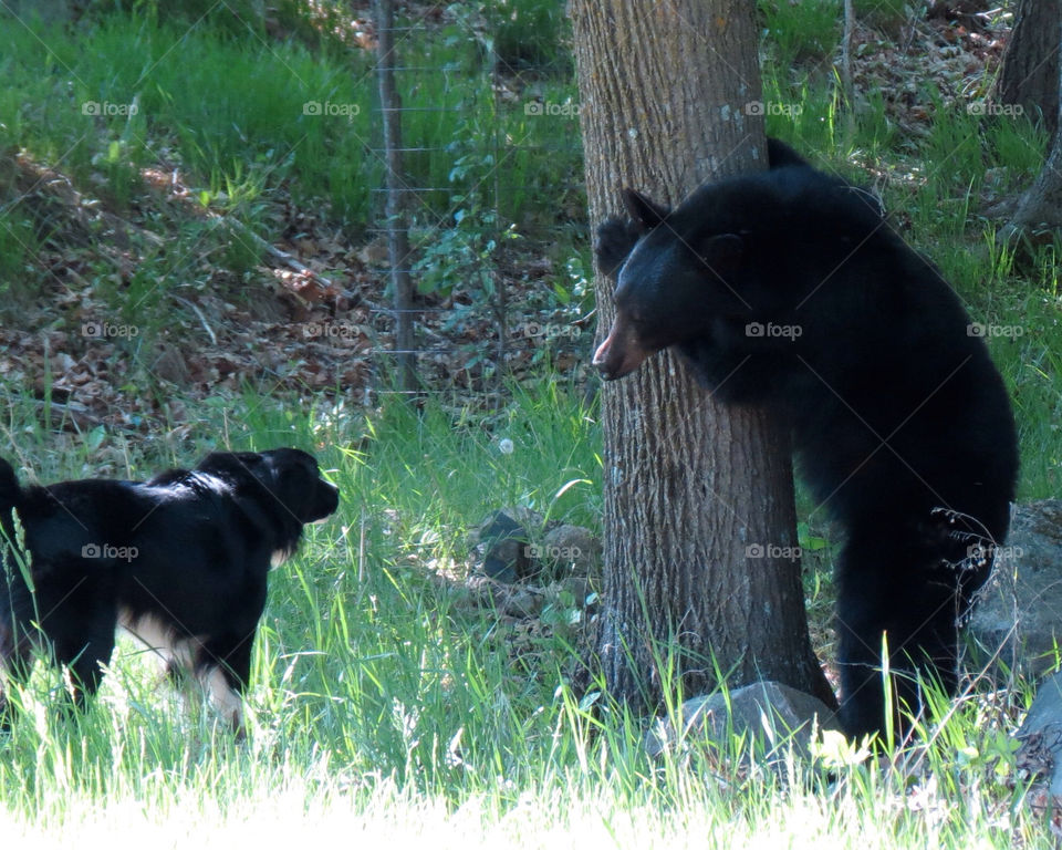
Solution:
{"label": "black bear standing upright against the tree trunk", "polygon": [[883,646],[909,711],[915,674],[957,686],[957,630],[1007,535],[1014,423],[982,326],[876,197],[780,142],[768,159],[674,210],[624,190],[631,220],[598,231],[616,318],[593,362],[614,380],[671,348],[721,401],[785,417],[844,535],[841,717],[861,735],[884,727]]}

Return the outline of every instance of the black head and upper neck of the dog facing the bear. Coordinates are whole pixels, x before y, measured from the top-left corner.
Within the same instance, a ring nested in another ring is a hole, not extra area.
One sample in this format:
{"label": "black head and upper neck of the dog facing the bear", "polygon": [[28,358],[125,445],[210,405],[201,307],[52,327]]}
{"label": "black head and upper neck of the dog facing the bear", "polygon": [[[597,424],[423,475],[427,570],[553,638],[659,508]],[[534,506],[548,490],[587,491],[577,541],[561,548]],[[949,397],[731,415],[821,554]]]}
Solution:
{"label": "black head and upper neck of the dog facing the bear", "polygon": [[317,471],[313,455],[298,448],[215,452],[196,471],[221,478],[237,498],[252,499],[284,527],[317,522],[339,507],[339,490]]}

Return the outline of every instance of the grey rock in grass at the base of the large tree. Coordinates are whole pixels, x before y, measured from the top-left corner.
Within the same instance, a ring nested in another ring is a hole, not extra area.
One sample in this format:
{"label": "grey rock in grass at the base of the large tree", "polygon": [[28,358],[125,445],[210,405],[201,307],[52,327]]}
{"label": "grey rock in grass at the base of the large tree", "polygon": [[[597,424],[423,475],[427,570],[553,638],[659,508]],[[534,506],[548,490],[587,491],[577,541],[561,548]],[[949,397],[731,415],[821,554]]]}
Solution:
{"label": "grey rock in grass at the base of the large tree", "polygon": [[[816,726],[818,725],[818,726]],[[669,719],[660,719],[646,733],[645,748],[659,756],[690,735],[725,740],[747,734],[764,744],[769,764],[780,764],[792,747],[808,754],[812,730],[841,730],[826,705],[780,682],[756,682],[727,694],[715,693],[687,699],[683,728],[676,734]]]}

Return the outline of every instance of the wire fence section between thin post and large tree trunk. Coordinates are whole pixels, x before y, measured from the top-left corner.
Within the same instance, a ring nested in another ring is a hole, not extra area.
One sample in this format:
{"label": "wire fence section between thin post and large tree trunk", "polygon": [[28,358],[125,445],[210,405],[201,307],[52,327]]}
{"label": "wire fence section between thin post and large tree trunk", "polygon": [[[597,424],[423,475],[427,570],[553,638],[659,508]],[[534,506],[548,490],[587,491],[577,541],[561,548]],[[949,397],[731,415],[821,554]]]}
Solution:
{"label": "wire fence section between thin post and large tree trunk", "polygon": [[[563,3],[433,24],[375,0],[375,190],[385,303],[376,391],[506,380],[585,353],[592,288],[579,105]],[[522,15],[522,20],[521,20]],[[517,32],[511,32],[513,25]]]}

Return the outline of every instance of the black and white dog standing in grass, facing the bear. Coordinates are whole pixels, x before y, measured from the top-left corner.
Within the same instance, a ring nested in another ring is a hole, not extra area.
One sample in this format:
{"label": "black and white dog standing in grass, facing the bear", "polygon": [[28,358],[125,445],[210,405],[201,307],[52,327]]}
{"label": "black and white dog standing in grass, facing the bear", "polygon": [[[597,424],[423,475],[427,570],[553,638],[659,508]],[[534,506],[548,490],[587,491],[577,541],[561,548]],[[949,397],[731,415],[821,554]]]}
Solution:
{"label": "black and white dog standing in grass, facing the bear", "polygon": [[121,625],[174,677],[192,673],[242,732],[267,574],[295,550],[303,525],[337,506],[336,488],[296,448],[214,453],[146,483],[49,487],[20,486],[0,459],[0,673],[24,677],[32,650],[44,649],[70,671],[82,704]]}

